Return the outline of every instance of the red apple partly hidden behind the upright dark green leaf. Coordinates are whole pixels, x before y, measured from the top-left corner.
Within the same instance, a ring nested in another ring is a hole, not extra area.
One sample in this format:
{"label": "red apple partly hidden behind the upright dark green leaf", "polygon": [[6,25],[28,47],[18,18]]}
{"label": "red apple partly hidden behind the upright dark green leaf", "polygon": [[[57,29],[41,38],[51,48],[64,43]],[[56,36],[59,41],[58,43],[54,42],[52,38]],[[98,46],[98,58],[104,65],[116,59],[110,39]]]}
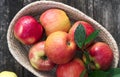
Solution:
{"label": "red apple partly hidden behind the upright dark green leaf", "polygon": [[74,40],[75,30],[76,30],[77,26],[79,26],[79,24],[82,24],[82,26],[84,27],[85,32],[86,32],[86,37],[88,37],[91,33],[94,32],[94,28],[90,23],[88,23],[86,21],[77,21],[73,24],[73,26],[69,30],[69,34],[71,34],[73,36],[72,37],[73,40]]}

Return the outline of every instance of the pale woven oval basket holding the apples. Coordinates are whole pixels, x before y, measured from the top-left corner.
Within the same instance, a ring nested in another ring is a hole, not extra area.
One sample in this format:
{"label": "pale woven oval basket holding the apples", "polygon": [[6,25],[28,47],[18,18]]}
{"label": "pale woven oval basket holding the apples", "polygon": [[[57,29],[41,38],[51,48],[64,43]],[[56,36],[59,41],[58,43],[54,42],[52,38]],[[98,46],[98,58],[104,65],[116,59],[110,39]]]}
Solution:
{"label": "pale woven oval basket holding the apples", "polygon": [[89,16],[85,15],[83,12],[70,7],[68,5],[65,5],[60,2],[53,2],[53,1],[36,1],[33,3],[28,4],[24,8],[22,8],[13,18],[11,21],[9,28],[8,28],[8,33],[7,33],[7,41],[8,41],[8,47],[13,55],[13,57],[27,70],[32,72],[34,75],[38,77],[55,77],[55,69],[53,69],[50,72],[41,72],[35,70],[31,64],[29,63],[28,60],[28,50],[29,47],[26,45],[21,44],[18,40],[15,39],[14,34],[13,34],[13,27],[16,21],[24,15],[32,15],[34,17],[40,16],[42,12],[44,12],[46,9],[49,8],[60,8],[64,10],[67,15],[70,17],[72,21],[77,21],[77,20],[85,20],[91,23],[95,29],[100,30],[99,38],[102,39],[102,41],[106,42],[109,44],[111,49],[113,50],[114,54],[114,60],[112,67],[117,67],[118,65],[118,60],[119,60],[119,52],[118,52],[118,47],[117,44],[114,40],[114,38],[111,36],[111,34],[99,23],[97,23],[95,20],[90,18]]}

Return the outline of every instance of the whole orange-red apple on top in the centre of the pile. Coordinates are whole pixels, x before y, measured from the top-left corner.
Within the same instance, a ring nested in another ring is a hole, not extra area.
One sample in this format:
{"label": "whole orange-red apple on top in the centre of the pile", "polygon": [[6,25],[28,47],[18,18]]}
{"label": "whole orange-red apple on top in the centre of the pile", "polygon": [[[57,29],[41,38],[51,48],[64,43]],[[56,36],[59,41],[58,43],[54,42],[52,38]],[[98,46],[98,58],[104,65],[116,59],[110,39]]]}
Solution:
{"label": "whole orange-red apple on top in the centre of the pile", "polygon": [[75,42],[71,36],[64,31],[51,33],[45,41],[45,52],[47,57],[56,64],[69,62],[76,50]]}

